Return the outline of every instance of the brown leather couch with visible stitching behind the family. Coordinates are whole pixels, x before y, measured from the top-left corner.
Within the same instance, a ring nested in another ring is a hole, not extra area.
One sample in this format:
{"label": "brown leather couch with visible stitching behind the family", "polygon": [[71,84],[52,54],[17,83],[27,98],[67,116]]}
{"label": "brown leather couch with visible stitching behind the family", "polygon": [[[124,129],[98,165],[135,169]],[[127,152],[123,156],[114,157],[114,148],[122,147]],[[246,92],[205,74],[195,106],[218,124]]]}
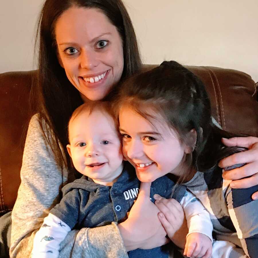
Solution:
{"label": "brown leather couch with visible stitching behind the family", "polygon": [[[258,84],[249,75],[217,67],[187,68],[205,83],[213,116],[224,130],[258,136]],[[28,103],[35,73],[0,74],[0,216],[12,210],[17,197],[26,131],[35,113]]]}

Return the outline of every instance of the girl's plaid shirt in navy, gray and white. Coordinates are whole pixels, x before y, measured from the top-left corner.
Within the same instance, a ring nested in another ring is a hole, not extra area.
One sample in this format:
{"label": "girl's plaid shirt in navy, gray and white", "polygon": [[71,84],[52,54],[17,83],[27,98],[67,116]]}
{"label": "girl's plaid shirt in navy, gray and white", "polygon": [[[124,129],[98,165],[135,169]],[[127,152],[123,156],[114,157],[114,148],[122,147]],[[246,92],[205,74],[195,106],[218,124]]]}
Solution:
{"label": "girl's plaid shirt in navy, gray and white", "polygon": [[[197,172],[184,185],[210,213],[215,240],[212,257],[257,258],[258,200],[252,200],[251,195],[258,190],[258,185],[232,189],[230,182],[223,180],[222,169],[216,167],[204,173]],[[238,247],[243,249],[242,255],[237,254]],[[224,252],[227,255],[223,255]]]}

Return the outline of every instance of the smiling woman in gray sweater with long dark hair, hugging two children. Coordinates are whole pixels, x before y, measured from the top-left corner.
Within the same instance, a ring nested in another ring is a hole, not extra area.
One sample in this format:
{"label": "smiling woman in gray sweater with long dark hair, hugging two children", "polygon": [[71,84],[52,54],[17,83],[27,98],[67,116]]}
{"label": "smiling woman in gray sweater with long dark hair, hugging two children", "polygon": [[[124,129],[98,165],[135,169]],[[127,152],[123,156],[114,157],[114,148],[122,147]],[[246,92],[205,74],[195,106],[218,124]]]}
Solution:
{"label": "smiling woman in gray sweater with long dark hair, hugging two children", "polygon": [[[73,110],[85,98],[110,97],[112,87],[141,68],[135,33],[120,0],[47,0],[38,31],[38,85],[33,85],[31,97],[38,99],[39,110],[30,122],[24,148],[21,185],[12,213],[11,257],[30,256],[36,230],[60,201],[61,187],[74,179],[71,161],[63,152]],[[258,140],[238,140],[243,141],[241,146],[253,147],[222,165],[240,163],[238,157],[253,161],[247,165],[252,174],[258,170]],[[251,159],[252,153],[256,159]],[[242,177],[236,172],[231,175],[234,179]],[[62,243],[60,257],[127,257],[126,251],[163,245],[166,233],[157,207],[149,205],[148,185],[141,190],[125,222],[72,230]],[[176,231],[183,218],[176,204],[175,214]],[[184,241],[177,236],[174,242],[183,247]]]}

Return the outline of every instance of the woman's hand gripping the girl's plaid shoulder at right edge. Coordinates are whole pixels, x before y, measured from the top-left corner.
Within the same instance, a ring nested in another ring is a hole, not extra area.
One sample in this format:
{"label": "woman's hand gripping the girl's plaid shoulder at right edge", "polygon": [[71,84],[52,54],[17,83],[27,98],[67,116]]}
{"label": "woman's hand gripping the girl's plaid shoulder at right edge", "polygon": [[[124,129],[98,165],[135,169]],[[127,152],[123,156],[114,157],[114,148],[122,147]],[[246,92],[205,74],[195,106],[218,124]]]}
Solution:
{"label": "woman's hand gripping the girl's plaid shoulder at right edge", "polygon": [[[258,138],[257,137],[234,137],[222,138],[226,146],[246,147],[249,150],[235,153],[222,159],[219,166],[230,167],[232,165],[247,163],[245,166],[225,171],[222,177],[226,180],[233,180],[230,183],[232,188],[249,188],[258,185]],[[246,178],[247,177],[247,178]],[[252,195],[253,200],[258,199],[258,191]]]}

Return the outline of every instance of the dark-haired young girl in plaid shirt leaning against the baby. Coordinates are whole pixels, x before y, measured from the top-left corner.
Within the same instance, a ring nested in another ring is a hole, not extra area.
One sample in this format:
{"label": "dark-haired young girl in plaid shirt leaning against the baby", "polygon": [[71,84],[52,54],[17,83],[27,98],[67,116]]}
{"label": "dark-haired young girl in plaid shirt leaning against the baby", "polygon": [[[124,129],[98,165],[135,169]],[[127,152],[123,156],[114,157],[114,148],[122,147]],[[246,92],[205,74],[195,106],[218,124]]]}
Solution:
{"label": "dark-haired young girl in plaid shirt leaning against the baby", "polygon": [[[258,257],[258,201],[251,199],[258,187],[232,189],[231,181],[223,180],[218,161],[243,149],[221,144],[226,133],[212,126],[210,100],[200,79],[177,62],[163,62],[127,79],[115,107],[123,153],[138,179],[152,182],[170,174],[209,212],[212,257]],[[156,197],[156,204],[166,206]],[[160,219],[169,236],[169,220]],[[187,248],[184,254],[189,256]]]}

